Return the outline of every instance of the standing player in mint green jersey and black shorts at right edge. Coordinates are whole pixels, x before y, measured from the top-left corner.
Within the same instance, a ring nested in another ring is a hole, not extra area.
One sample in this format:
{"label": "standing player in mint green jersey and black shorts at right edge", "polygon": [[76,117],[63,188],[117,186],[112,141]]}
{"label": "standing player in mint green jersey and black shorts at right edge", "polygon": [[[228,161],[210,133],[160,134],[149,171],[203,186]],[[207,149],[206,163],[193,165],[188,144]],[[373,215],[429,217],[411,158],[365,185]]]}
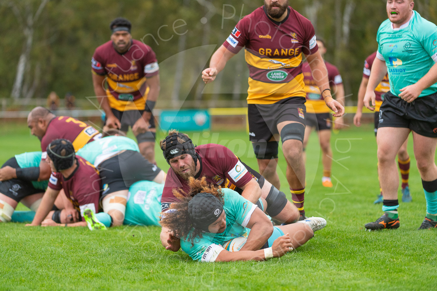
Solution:
{"label": "standing player in mint green jersey and black shorts at right edge", "polygon": [[385,213],[366,229],[399,227],[395,156],[413,132],[414,156],[427,201],[419,229],[437,228],[437,26],[413,10],[412,0],[388,0],[385,20],[378,29],[378,52],[364,105],[375,107],[375,88],[388,72],[390,91],[379,111],[378,174]]}

